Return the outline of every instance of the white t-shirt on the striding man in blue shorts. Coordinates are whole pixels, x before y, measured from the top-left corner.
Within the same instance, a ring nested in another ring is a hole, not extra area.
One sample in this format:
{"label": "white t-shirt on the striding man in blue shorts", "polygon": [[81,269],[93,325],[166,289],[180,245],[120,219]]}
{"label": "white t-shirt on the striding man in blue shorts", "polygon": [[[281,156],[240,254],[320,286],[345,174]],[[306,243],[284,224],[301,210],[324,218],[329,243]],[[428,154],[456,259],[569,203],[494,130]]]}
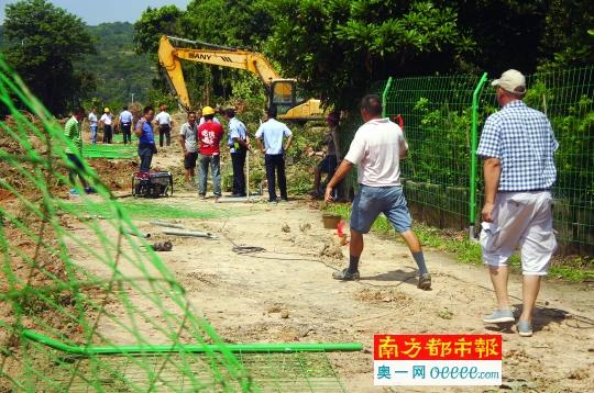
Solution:
{"label": "white t-shirt on the striding man in blue shorts", "polygon": [[400,184],[400,154],[408,144],[389,119],[373,119],[355,133],[344,159],[358,165],[359,182],[370,187]]}

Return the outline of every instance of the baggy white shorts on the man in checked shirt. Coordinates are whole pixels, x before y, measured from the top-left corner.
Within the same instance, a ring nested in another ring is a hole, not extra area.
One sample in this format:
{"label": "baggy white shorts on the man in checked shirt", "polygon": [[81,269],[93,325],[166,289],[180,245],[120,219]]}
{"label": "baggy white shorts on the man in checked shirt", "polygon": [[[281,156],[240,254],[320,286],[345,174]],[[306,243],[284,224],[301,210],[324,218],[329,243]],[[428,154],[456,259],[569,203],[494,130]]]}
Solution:
{"label": "baggy white shorts on the man in checked shirt", "polygon": [[557,249],[549,191],[498,192],[493,223],[482,223],[483,262],[507,266],[517,246],[524,274],[544,276]]}

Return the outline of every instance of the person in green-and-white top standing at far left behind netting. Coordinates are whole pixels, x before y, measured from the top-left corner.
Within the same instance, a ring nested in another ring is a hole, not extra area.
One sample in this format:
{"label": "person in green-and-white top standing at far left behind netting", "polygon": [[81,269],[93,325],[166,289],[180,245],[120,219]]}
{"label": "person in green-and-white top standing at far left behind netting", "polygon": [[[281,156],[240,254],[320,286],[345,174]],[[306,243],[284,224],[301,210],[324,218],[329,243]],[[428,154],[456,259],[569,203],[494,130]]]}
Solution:
{"label": "person in green-and-white top standing at far left behind netting", "polygon": [[70,179],[70,184],[73,186],[73,189],[70,189],[72,194],[78,194],[78,190],[76,189],[76,179],[78,178],[80,180],[80,183],[82,184],[82,188],[85,189],[85,192],[92,193],[95,192],[89,184],[87,183],[87,180],[85,179],[84,173],[86,172],[85,164],[82,164],[82,135],[80,131],[80,124],[82,123],[82,120],[85,119],[85,110],[82,108],[78,108],[73,116],[68,119],[66,122],[66,125],[64,126],[64,135],[73,142],[74,148],[70,146],[66,146],[66,156],[68,157],[68,160],[72,162],[73,167],[68,169],[68,178]]}

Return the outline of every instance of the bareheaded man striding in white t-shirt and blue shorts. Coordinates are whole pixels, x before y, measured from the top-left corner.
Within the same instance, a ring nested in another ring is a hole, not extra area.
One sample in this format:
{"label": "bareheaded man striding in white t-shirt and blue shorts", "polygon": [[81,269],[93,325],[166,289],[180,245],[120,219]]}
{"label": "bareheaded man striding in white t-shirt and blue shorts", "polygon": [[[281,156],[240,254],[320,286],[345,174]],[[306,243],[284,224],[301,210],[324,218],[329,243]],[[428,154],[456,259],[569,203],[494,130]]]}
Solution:
{"label": "bareheaded man striding in white t-shirt and blue shorts", "polygon": [[349,153],[326,188],[324,199],[332,201],[332,189],[359,166],[360,190],[351,212],[349,267],[332,274],[336,280],[359,280],[359,258],[363,252],[363,234],[370,232],[375,218],[384,213],[413,254],[419,268],[418,288],[431,289],[431,276],[425,265],[422,248],[411,229],[411,218],[400,184],[400,158],[408,151],[403,130],[389,119],[382,119],[382,101],[375,94],[361,102],[365,122],[355,133]]}

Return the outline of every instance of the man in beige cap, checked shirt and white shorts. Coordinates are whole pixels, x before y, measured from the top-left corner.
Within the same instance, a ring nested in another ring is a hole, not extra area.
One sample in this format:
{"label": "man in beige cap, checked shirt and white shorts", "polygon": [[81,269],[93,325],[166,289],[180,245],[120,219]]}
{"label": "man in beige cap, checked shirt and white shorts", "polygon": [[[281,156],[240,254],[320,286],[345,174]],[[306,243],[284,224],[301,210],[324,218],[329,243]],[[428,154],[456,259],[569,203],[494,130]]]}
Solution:
{"label": "man in beige cap, checked shirt and white shorts", "polygon": [[502,110],[487,117],[476,154],[484,159],[483,262],[488,265],[497,310],[483,321],[515,322],[507,293],[507,260],[519,245],[524,296],[516,327],[527,337],[532,335],[540,280],[557,248],[551,188],[559,143],[547,115],[524,103],[526,78],[521,72],[507,70],[491,85],[497,87]]}

